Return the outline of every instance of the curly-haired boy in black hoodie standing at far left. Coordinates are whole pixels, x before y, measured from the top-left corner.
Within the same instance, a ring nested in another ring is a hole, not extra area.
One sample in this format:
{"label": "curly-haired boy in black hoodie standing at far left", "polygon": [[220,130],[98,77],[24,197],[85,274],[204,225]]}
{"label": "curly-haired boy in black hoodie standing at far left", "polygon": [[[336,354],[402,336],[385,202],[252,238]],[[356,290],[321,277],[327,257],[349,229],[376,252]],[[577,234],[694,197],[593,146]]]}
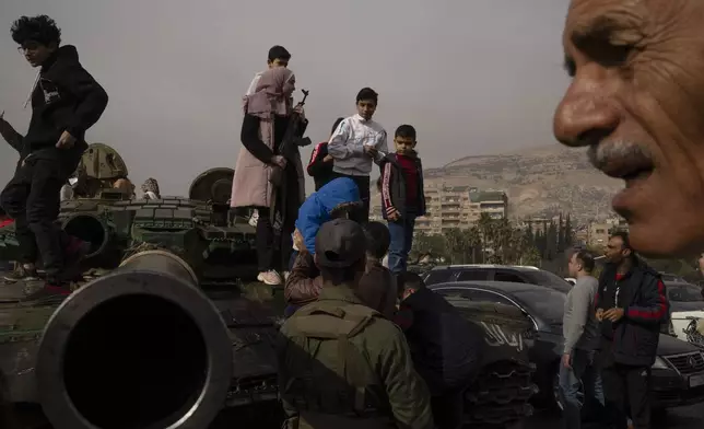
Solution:
{"label": "curly-haired boy in black hoodie standing at far left", "polygon": [[[33,234],[47,283],[39,295],[68,294],[73,268],[85,243],[62,243],[56,225],[60,189],[79,164],[85,130],[101,117],[107,94],[79,62],[75,47],[59,47],[61,31],[46,15],[22,16],[12,38],[33,67],[39,67],[32,91],[32,119],[22,141],[23,159],[0,195],[0,205],[16,222],[23,264],[32,268]],[[32,298],[39,298],[32,297]]]}

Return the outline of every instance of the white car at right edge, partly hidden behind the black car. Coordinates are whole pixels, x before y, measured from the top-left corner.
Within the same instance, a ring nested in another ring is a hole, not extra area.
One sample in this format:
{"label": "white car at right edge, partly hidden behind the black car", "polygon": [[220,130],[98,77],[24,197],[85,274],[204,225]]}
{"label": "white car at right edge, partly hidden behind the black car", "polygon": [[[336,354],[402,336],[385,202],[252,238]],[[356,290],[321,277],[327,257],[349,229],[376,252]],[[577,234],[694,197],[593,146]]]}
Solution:
{"label": "white car at right edge, partly hidden behind the black car", "polygon": [[666,282],[670,301],[669,334],[704,348],[704,297],[702,288],[687,282]]}

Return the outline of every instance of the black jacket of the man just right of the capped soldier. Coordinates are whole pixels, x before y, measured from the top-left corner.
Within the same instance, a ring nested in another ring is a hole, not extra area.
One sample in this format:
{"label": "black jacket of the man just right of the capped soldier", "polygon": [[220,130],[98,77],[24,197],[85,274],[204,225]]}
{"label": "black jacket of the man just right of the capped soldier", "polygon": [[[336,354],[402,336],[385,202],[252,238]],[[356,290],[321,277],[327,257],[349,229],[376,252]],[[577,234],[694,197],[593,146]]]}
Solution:
{"label": "black jacket of the man just right of the capped soldier", "polygon": [[431,394],[467,387],[482,359],[484,333],[479,326],[425,288],[401,302],[395,322],[403,328],[415,369]]}

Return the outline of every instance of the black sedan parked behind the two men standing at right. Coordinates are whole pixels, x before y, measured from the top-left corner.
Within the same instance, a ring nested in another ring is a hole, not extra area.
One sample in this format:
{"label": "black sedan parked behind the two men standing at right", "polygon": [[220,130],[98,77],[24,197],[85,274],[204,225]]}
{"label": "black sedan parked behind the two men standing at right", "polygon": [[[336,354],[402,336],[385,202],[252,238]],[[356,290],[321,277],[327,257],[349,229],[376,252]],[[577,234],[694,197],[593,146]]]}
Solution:
{"label": "black sedan parked behind the two men standing at right", "polygon": [[[555,393],[564,344],[565,293],[536,285],[500,281],[436,283],[431,289],[453,297],[450,302],[464,298],[512,305],[526,313],[536,331],[529,351],[531,362],[537,366],[535,382],[540,393],[536,398],[539,405],[560,407]],[[654,409],[704,402],[704,352],[687,341],[660,335],[652,386]]]}

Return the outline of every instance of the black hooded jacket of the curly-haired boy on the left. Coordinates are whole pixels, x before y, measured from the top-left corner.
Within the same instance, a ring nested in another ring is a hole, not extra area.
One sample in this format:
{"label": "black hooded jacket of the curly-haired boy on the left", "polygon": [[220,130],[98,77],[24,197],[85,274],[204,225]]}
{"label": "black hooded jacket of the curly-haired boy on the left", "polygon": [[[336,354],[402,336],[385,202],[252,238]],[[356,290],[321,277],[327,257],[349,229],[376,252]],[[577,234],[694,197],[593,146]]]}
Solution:
{"label": "black hooded jacket of the curly-haired boy on the left", "polygon": [[[101,118],[106,106],[107,93],[81,66],[75,47],[60,47],[42,65],[32,92],[32,120],[21,158],[32,154],[33,159],[57,160],[74,169],[87,148],[85,130]],[[77,139],[73,148],[56,148],[63,131]]]}

